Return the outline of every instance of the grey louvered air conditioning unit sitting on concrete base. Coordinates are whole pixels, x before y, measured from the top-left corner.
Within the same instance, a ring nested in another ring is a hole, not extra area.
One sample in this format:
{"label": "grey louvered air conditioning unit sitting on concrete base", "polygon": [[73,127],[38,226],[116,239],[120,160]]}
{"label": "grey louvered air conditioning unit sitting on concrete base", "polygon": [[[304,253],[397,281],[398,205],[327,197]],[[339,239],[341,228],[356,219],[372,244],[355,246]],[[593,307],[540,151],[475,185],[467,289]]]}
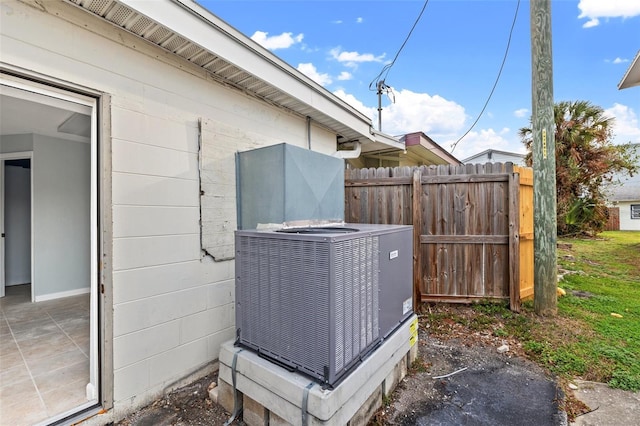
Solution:
{"label": "grey louvered air conditioning unit sitting on concrete base", "polygon": [[332,387],[412,312],[413,228],[239,230],[237,344]]}

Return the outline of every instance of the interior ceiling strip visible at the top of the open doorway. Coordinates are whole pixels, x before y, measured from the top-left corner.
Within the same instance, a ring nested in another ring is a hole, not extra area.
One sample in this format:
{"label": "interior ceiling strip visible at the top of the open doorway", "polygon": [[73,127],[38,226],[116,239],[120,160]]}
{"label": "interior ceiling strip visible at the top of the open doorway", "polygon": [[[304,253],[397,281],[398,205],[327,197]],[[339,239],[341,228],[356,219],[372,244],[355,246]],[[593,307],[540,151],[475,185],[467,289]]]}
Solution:
{"label": "interior ceiling strip visible at the top of the open doorway", "polygon": [[0,94],[0,136],[36,133],[88,142],[91,118],[64,108]]}

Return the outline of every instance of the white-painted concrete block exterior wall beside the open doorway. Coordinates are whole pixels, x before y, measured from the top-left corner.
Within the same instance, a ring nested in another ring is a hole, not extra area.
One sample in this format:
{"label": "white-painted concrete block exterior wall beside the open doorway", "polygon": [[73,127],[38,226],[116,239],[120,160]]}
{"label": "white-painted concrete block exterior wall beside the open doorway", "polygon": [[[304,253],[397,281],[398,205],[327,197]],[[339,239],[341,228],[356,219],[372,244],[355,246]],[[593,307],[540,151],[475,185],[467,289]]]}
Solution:
{"label": "white-painted concrete block exterior wall beside the open doorway", "polygon": [[[234,129],[218,135],[221,149],[247,137],[306,147],[307,128],[304,117],[64,9],[79,25],[3,2],[1,60],[111,95],[113,391],[115,408],[127,411],[215,360],[234,335],[233,261],[200,250],[198,119]],[[331,132],[312,127],[311,137],[315,150],[335,151]]]}

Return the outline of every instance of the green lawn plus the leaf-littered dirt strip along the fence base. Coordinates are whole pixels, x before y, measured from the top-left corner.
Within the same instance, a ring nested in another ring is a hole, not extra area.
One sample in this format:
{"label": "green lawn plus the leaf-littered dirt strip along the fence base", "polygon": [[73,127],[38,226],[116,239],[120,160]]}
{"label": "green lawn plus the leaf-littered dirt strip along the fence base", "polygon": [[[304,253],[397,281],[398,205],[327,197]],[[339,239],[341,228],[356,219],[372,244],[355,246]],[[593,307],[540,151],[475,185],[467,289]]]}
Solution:
{"label": "green lawn plus the leaf-littered dirt strip along the fence base", "polygon": [[[491,334],[567,381],[575,377],[640,391],[640,232],[604,232],[597,239],[558,241],[558,266],[572,271],[559,287],[556,317],[520,314],[504,303],[434,307],[425,315],[434,333]],[[612,316],[617,314],[621,317]]]}

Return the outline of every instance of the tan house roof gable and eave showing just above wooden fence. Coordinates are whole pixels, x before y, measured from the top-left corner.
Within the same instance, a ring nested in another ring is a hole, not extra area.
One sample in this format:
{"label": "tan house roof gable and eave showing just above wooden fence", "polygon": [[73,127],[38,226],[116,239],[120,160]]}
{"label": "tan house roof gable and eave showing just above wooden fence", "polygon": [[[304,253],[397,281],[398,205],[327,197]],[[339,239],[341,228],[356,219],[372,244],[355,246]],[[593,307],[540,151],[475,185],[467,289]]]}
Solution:
{"label": "tan house roof gable and eave showing just above wooden fence", "polygon": [[[380,139],[378,137],[378,139]],[[438,145],[423,132],[407,133],[399,136],[397,146],[370,143],[363,145],[361,155],[349,161],[355,168],[432,166],[440,164],[461,164],[453,154]]]}

